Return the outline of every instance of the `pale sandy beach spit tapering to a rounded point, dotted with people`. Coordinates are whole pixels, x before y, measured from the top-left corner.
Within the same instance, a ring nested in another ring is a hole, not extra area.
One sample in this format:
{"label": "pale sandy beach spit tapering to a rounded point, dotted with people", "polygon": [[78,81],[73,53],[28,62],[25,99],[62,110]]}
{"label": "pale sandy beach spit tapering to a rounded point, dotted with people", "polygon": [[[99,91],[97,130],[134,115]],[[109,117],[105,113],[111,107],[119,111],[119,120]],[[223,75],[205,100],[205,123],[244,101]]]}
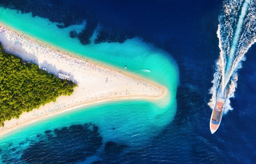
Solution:
{"label": "pale sandy beach spit tapering to a rounded point, dotted with people", "polygon": [[0,41],[6,52],[33,62],[40,68],[45,67],[56,76],[60,71],[70,74],[70,80],[78,84],[72,95],[59,96],[55,102],[24,112],[18,119],[5,121],[4,127],[0,127],[0,135],[48,115],[76,107],[119,99],[157,100],[167,92],[160,84],[123,72],[124,70],[102,66],[46,47],[1,25]]}

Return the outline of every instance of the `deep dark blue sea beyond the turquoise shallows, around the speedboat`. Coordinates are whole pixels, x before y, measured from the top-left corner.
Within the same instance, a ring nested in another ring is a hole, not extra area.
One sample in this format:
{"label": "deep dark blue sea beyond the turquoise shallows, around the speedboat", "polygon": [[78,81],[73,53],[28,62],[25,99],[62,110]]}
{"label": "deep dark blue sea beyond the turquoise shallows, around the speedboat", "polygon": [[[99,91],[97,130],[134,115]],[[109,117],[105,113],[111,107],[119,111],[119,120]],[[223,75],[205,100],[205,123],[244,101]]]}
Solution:
{"label": "deep dark blue sea beyond the turquoise shallows, around the speedboat", "polygon": [[[256,163],[255,45],[246,52],[243,67],[238,70],[235,96],[230,99],[233,110],[222,117],[220,127],[214,134],[209,130],[212,110],[207,103],[211,98],[209,89],[212,86],[215,62],[219,56],[216,31],[218,16],[223,10],[222,0],[0,0],[0,6],[24,13],[32,12],[34,16],[58,22],[60,28],[86,19],[87,28],[82,31],[79,39],[83,44],[89,43],[88,37],[97,24],[100,24],[102,37],[97,38],[98,42],[123,42],[127,38],[138,36],[145,42],[167,51],[176,60],[179,83],[174,120],[146,144],[134,148],[132,145],[115,145],[110,142],[110,148],[96,154],[99,159],[95,157],[89,161]],[[84,126],[91,126],[94,130],[90,132],[97,132],[97,127],[93,124]],[[70,127],[69,132],[66,132],[66,129],[56,131],[59,132],[57,139],[76,138],[78,143],[67,141],[65,146],[52,146],[50,151],[66,149],[71,152],[70,147],[79,147],[82,142],[79,139],[83,139],[79,138],[79,134],[83,131],[79,133],[81,127],[76,127],[76,131],[71,128],[75,127]],[[100,129],[100,126],[98,128]],[[59,140],[51,140],[50,144],[58,145]],[[100,136],[90,141],[93,147],[90,149],[87,145],[88,147],[80,151],[91,151],[88,154],[93,155],[99,148]],[[44,148],[49,146],[44,142],[36,144],[41,144]],[[24,150],[24,158],[26,155],[38,155],[36,144]],[[71,154],[73,156],[70,160],[61,160],[59,163],[75,163],[76,158],[80,159],[82,155],[79,151]],[[40,155],[47,156],[47,162],[56,162],[56,158],[51,159],[51,153]],[[66,157],[70,158],[68,155]],[[26,162],[37,163],[32,159]]]}

